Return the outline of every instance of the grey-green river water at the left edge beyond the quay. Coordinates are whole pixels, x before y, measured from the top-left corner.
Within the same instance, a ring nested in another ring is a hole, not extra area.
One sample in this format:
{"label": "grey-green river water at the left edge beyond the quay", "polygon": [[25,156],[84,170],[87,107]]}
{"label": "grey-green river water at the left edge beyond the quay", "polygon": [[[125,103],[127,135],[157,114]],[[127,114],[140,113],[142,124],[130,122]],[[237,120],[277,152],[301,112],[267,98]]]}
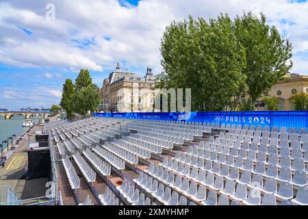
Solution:
{"label": "grey-green river water at the left edge beyond the quay", "polygon": [[[38,123],[38,118],[31,118],[34,123]],[[7,140],[8,137],[16,135],[14,140],[18,138],[24,131],[28,128],[23,128],[23,121],[25,120],[24,116],[14,116],[12,119],[5,120],[3,117],[0,117],[0,144],[3,140]],[[11,144],[11,140],[9,140]],[[3,149],[5,149],[7,144],[3,144]]]}

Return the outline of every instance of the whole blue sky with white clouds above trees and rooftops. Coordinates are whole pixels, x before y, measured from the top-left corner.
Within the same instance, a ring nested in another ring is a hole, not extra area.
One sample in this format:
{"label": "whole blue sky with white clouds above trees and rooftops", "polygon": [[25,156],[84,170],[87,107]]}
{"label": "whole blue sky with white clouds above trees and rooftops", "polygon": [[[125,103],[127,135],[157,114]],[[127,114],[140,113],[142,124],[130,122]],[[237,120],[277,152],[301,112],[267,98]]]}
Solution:
{"label": "whole blue sky with white clouds above trees and rooftops", "polygon": [[[60,103],[62,84],[88,68],[94,83],[120,62],[142,76],[162,70],[160,39],[166,25],[202,16],[263,12],[294,44],[293,73],[308,75],[308,3],[303,0],[48,0],[0,1],[0,108]],[[49,14],[50,15],[50,14]]]}

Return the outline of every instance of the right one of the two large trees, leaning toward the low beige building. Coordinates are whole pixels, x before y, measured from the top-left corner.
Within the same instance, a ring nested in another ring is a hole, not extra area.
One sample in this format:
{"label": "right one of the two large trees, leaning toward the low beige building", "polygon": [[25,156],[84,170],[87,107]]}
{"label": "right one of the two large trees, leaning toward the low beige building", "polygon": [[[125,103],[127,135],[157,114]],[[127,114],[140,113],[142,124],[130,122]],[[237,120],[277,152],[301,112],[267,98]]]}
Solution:
{"label": "right one of the two large trees, leaning toward the low beige building", "polygon": [[234,32],[246,52],[248,98],[242,101],[242,110],[254,110],[255,101],[282,79],[292,68],[292,44],[285,40],[276,27],[266,24],[266,16],[257,18],[251,12],[237,16]]}

